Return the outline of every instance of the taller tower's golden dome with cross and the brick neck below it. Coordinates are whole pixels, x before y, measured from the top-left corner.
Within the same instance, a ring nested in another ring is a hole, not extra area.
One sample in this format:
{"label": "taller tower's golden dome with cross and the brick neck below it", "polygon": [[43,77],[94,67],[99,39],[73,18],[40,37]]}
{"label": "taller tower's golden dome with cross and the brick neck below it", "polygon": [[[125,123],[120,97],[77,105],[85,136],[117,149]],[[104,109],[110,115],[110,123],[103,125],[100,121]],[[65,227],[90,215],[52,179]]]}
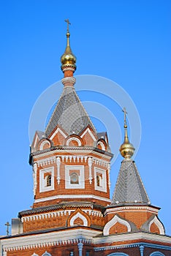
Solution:
{"label": "taller tower's golden dome with cross and the brick neck below it", "polygon": [[75,84],[75,78],[73,79],[72,77],[76,69],[76,65],[75,65],[76,57],[72,53],[72,50],[70,48],[70,43],[69,43],[69,37],[70,37],[69,25],[71,25],[71,23],[69,22],[68,19],[65,20],[65,22],[67,23],[67,30],[66,30],[66,49],[64,54],[61,56],[61,70],[62,72],[64,72],[64,79],[62,80],[62,83],[64,84],[64,86],[73,86]]}

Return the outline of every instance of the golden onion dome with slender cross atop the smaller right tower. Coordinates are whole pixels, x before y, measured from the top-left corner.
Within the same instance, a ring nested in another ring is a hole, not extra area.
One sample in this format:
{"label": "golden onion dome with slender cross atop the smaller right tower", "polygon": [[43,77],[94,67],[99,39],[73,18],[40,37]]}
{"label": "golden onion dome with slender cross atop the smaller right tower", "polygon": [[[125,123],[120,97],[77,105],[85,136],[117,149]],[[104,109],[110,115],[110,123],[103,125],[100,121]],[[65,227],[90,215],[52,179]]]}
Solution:
{"label": "golden onion dome with slender cross atop the smaller right tower", "polygon": [[128,138],[128,132],[127,132],[127,124],[126,124],[126,108],[123,108],[123,113],[124,113],[124,129],[125,129],[125,135],[124,135],[124,141],[123,144],[121,145],[120,152],[122,157],[124,158],[131,158],[134,154],[134,146],[132,143],[129,142]]}

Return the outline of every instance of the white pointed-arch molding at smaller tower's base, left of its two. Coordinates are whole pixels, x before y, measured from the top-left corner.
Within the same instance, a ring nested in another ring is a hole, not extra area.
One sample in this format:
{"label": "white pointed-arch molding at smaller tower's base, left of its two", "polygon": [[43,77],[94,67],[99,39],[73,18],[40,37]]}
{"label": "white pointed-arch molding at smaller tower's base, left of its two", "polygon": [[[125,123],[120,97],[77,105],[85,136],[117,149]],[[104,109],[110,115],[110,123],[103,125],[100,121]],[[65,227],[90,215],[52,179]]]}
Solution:
{"label": "white pointed-arch molding at smaller tower's base, left of its two", "polygon": [[131,232],[132,229],[131,229],[131,226],[129,225],[129,222],[126,222],[126,220],[121,219],[120,217],[115,215],[113,217],[113,219],[110,219],[110,221],[107,222],[107,224],[104,226],[104,229],[103,229],[104,236],[108,236],[109,235],[110,228],[113,227],[117,222],[122,224],[122,225],[124,225],[124,226],[126,226],[127,229],[128,229],[128,232]]}

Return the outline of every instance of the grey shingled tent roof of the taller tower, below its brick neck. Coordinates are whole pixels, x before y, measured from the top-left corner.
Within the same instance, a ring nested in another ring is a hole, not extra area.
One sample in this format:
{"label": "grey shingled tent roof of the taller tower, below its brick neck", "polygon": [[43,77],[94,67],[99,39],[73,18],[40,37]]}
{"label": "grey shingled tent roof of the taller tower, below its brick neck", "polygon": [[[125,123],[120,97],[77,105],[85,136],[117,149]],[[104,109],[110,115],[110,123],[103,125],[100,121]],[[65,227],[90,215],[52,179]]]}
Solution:
{"label": "grey shingled tent roof of the taller tower, below its brick neck", "polygon": [[59,125],[64,131],[71,135],[79,135],[88,124],[96,132],[94,124],[86,113],[74,87],[64,87],[55,110],[47,124],[45,135],[48,137],[53,129]]}

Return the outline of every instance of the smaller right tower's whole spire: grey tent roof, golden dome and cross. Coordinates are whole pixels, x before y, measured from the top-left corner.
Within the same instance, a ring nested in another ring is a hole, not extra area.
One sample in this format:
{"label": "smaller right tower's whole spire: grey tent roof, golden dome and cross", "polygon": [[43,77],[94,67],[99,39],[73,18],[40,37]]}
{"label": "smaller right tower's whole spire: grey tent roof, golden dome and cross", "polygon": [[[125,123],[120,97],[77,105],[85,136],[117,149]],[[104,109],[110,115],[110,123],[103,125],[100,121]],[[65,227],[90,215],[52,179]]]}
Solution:
{"label": "smaller right tower's whole spire: grey tent roof, golden dome and cross", "polygon": [[116,205],[149,205],[145,187],[138,173],[135,162],[131,159],[134,154],[134,146],[129,143],[127,124],[126,124],[126,108],[123,108],[124,113],[124,129],[125,136],[120,152],[124,157],[121,168],[118,174],[118,179],[113,193],[112,204]]}

